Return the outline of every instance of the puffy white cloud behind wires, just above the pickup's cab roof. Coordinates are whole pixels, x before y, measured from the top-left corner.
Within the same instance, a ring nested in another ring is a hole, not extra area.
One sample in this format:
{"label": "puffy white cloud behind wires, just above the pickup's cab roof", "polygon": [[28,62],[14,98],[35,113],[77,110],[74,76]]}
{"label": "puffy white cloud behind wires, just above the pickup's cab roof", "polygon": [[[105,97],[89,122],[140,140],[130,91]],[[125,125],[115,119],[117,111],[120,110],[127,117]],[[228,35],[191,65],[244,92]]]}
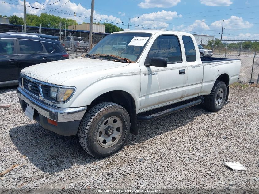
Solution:
{"label": "puffy white cloud behind wires, just above the pickup's cab roof", "polygon": [[141,16],[130,19],[130,23],[133,25],[140,25],[145,27],[153,28],[167,28],[169,24],[167,23],[173,18],[182,17],[182,15],[177,15],[176,11],[158,11],[152,13],[145,13]]}

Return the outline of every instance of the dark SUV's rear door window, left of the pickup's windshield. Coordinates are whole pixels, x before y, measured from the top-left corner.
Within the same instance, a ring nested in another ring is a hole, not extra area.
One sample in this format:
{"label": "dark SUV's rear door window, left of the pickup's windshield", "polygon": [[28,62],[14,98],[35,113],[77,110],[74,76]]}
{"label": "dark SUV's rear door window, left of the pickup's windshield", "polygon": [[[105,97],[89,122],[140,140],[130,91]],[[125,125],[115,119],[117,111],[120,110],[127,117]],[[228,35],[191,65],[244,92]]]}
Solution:
{"label": "dark SUV's rear door window, left of the pickup's windshield", "polygon": [[18,39],[20,54],[41,54],[43,47],[40,41]]}

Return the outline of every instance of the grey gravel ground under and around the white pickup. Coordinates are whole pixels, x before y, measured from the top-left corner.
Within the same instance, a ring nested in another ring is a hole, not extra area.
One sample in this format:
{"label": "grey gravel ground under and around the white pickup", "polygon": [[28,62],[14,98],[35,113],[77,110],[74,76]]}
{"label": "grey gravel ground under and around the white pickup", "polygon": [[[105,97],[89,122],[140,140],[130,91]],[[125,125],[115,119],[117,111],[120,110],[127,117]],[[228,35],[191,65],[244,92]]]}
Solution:
{"label": "grey gravel ground under and around the white pickup", "polygon": [[[139,122],[124,149],[90,157],[78,137],[45,130],[22,112],[16,88],[0,89],[0,188],[259,189],[259,88],[233,86],[218,112],[202,105]],[[168,107],[167,107],[168,108]],[[149,112],[152,113],[152,112]],[[223,162],[240,162],[233,171]]]}

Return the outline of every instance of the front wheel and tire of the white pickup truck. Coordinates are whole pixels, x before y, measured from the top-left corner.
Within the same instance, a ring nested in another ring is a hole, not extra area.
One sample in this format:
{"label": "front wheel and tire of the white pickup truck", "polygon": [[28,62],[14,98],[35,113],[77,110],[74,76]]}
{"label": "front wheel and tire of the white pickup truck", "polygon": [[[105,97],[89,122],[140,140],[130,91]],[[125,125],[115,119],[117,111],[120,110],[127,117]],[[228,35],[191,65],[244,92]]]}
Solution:
{"label": "front wheel and tire of the white pickup truck", "polygon": [[103,102],[86,112],[79,125],[78,138],[88,154],[104,158],[124,145],[129,132],[128,112],[116,103]]}

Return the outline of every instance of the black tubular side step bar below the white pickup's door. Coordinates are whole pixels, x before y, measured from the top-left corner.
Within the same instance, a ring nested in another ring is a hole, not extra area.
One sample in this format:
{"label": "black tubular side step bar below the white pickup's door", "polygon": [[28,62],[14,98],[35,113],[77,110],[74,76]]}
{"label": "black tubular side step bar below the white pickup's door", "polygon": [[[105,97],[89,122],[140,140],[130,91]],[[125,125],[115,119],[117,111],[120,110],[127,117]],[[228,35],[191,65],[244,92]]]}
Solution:
{"label": "black tubular side step bar below the white pickup's door", "polygon": [[138,115],[137,118],[138,118],[138,121],[150,121],[150,120],[160,118],[162,116],[169,115],[173,112],[177,112],[177,111],[183,110],[185,108],[189,108],[189,107],[198,105],[200,103],[201,103],[201,99],[198,99],[196,101],[189,102],[187,104],[180,105],[180,106],[177,106],[177,107],[174,107],[174,108],[170,108],[170,109],[167,109],[167,110],[164,110],[162,112],[158,112],[158,113],[155,113],[155,114],[152,114],[152,115],[149,115],[149,116],[139,116]]}

